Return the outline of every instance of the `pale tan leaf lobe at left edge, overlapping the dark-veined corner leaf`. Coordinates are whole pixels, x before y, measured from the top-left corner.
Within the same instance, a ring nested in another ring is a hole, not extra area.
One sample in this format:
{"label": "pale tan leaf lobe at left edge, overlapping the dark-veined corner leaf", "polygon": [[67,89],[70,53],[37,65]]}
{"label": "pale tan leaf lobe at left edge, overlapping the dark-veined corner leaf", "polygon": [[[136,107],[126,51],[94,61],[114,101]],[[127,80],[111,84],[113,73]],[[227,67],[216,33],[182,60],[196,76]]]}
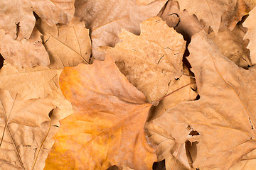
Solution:
{"label": "pale tan leaf lobe at left edge, overlapping the dark-veined corner leaf", "polygon": [[41,123],[50,120],[48,113],[53,110],[51,98],[19,100],[11,96],[9,91],[0,90],[0,116],[7,115],[8,123],[18,123],[38,127]]}

